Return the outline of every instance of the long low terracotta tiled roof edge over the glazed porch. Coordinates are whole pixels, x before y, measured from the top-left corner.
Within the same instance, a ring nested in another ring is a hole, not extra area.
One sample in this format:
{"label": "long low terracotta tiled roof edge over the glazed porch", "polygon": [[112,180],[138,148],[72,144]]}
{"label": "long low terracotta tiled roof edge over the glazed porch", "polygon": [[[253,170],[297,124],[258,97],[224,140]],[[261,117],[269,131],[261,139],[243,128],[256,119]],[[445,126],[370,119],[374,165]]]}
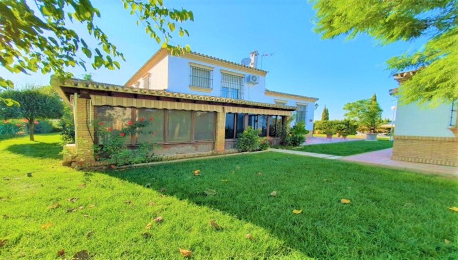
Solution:
{"label": "long low terracotta tiled roof edge over the glazed porch", "polygon": [[157,96],[157,97],[174,97],[174,98],[183,98],[183,99],[200,100],[200,101],[211,101],[211,102],[218,102],[218,103],[243,104],[243,105],[249,105],[249,106],[277,108],[277,109],[290,110],[290,111],[296,110],[296,107],[293,107],[293,106],[253,102],[253,101],[247,101],[247,100],[242,100],[242,99],[232,99],[232,98],[226,98],[226,97],[214,97],[214,96],[186,94],[186,93],[180,93],[180,92],[168,92],[165,90],[125,87],[125,86],[107,84],[107,83],[101,83],[101,82],[95,82],[95,81],[85,81],[81,79],[59,80],[57,78],[51,78],[51,85],[59,86],[59,87],[75,87],[75,88],[82,88],[82,89],[92,89],[92,90],[99,90],[99,91],[135,93],[135,94],[150,95],[150,96]]}

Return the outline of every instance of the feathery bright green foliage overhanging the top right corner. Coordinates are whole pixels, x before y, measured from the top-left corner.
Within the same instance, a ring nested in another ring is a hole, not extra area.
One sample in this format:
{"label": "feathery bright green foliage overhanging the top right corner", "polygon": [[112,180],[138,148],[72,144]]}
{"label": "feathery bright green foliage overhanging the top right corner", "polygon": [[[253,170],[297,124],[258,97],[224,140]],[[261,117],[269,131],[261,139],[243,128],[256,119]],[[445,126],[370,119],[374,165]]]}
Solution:
{"label": "feathery bright green foliage overhanging the top right corner", "polygon": [[387,61],[388,69],[415,70],[399,88],[400,103],[431,101],[432,106],[458,98],[458,1],[456,0],[312,0],[315,31],[323,39],[368,34],[379,43],[428,38],[413,52]]}

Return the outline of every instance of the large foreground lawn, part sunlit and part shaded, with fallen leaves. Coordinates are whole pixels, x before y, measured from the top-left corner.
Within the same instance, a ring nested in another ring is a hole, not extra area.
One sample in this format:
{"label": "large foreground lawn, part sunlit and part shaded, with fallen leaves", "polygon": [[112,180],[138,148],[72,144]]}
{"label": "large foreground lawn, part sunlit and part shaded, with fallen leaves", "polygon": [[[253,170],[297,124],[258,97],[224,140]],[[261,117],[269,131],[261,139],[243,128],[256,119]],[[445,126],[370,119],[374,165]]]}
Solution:
{"label": "large foreground lawn, part sunlit and part shaded, with fallen leaves", "polygon": [[453,179],[276,152],[87,173],[36,140],[0,142],[0,259],[458,258]]}

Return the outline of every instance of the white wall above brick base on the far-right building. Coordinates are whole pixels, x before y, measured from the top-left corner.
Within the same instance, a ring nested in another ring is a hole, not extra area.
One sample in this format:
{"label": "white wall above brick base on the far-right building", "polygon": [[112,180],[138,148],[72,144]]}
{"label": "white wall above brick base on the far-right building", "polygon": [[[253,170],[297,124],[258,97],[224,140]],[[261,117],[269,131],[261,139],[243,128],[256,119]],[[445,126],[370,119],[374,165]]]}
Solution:
{"label": "white wall above brick base on the far-right building", "polygon": [[[454,137],[450,126],[452,104],[437,108],[417,104],[399,105],[396,111],[395,135]],[[455,119],[456,120],[456,119]]]}

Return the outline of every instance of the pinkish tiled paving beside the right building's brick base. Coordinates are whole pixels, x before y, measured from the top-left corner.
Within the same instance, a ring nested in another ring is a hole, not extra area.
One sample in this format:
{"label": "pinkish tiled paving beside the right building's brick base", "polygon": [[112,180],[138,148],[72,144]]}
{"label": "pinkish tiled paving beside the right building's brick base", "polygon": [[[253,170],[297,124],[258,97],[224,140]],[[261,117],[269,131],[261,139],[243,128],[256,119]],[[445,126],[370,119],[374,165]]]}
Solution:
{"label": "pinkish tiled paving beside the right building's brick base", "polygon": [[395,161],[390,159],[392,152],[393,148],[389,148],[380,151],[366,152],[357,155],[342,157],[339,158],[339,160],[458,178],[457,167],[419,162]]}

